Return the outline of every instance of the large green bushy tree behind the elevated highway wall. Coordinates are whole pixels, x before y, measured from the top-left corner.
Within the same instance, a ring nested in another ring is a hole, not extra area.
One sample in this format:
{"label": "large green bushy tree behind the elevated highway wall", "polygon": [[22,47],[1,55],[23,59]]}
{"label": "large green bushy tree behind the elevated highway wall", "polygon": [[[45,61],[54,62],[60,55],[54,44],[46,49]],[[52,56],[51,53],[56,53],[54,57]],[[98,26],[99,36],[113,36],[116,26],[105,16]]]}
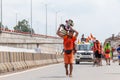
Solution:
{"label": "large green bushy tree behind the elevated highway wall", "polygon": [[14,30],[20,31],[20,32],[31,32],[35,33],[32,28],[30,28],[30,25],[28,24],[28,21],[23,19],[22,21],[18,22],[18,25],[14,27]]}

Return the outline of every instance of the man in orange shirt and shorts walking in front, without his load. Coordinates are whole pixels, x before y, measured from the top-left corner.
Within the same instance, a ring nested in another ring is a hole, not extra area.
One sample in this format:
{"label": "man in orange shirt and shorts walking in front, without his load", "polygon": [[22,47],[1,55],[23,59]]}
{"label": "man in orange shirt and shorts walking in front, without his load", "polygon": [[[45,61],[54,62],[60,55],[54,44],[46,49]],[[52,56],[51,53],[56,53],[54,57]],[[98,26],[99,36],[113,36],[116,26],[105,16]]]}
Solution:
{"label": "man in orange shirt and shorts walking in front, without his load", "polygon": [[[63,46],[64,46],[64,63],[65,63],[66,75],[72,77],[74,47],[75,47],[74,43],[78,36],[78,32],[71,28],[69,31],[67,31],[67,35],[63,35],[59,27],[57,30],[57,35],[63,38],[64,41]],[[68,70],[68,65],[70,65],[69,70]]]}

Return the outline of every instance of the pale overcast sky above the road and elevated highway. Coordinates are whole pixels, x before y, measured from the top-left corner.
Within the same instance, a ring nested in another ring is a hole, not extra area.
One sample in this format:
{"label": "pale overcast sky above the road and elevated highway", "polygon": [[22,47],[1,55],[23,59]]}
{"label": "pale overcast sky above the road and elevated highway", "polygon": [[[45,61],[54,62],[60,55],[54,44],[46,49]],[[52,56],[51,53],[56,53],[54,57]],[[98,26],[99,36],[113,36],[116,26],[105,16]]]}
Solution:
{"label": "pale overcast sky above the road and elevated highway", "polygon": [[[36,33],[56,36],[57,27],[65,20],[74,21],[74,29],[85,37],[92,33],[104,40],[120,32],[120,0],[32,0],[32,28]],[[10,29],[19,20],[31,20],[30,0],[3,0],[3,25]],[[1,17],[1,16],[0,16]]]}

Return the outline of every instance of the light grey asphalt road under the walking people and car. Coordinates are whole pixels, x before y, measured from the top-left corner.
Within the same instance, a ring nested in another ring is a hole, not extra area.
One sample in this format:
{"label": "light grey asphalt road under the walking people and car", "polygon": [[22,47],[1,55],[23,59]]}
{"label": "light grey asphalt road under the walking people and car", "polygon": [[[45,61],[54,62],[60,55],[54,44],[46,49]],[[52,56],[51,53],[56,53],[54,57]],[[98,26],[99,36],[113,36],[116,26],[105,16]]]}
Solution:
{"label": "light grey asphalt road under the walking people and car", "polygon": [[92,63],[74,64],[73,77],[65,76],[64,64],[54,64],[23,72],[0,76],[0,80],[119,80],[120,66],[112,63],[108,66],[93,67]]}

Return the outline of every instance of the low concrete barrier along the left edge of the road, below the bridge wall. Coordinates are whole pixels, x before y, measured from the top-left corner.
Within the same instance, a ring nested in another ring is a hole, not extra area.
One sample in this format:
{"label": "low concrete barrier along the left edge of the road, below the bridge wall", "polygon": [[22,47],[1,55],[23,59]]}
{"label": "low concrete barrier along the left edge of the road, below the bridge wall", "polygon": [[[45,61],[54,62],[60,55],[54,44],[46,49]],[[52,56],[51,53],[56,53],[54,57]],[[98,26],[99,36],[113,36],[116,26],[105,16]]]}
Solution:
{"label": "low concrete barrier along the left edge of the road, below the bridge wall", "polygon": [[0,52],[0,73],[12,72],[63,62],[63,55]]}

